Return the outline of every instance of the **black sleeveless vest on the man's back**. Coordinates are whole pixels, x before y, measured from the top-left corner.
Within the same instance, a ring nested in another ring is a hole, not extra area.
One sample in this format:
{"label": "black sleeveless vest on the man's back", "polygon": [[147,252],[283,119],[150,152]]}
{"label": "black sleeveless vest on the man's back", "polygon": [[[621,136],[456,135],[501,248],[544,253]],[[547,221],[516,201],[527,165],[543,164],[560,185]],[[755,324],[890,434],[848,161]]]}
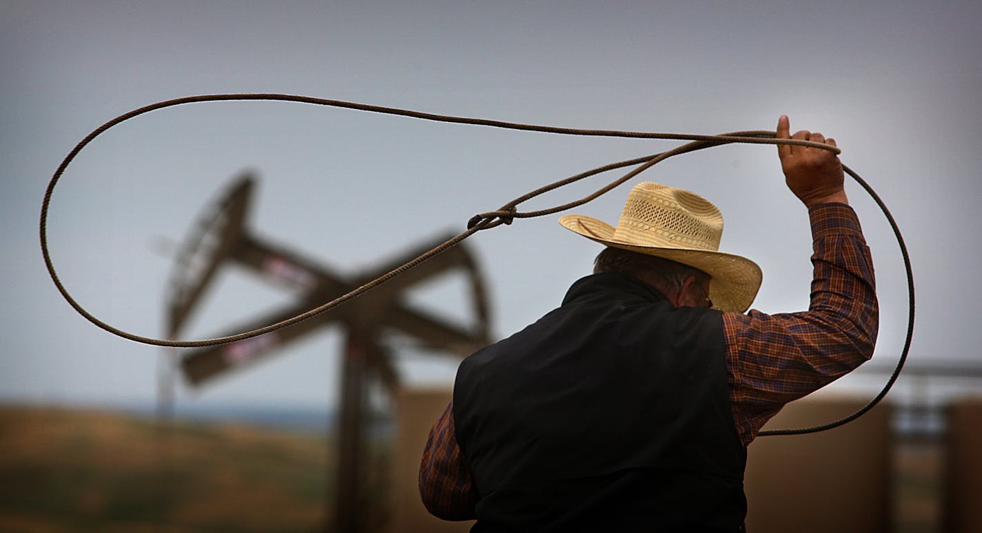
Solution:
{"label": "black sleeveless vest on the man's back", "polygon": [[746,451],[719,311],[618,273],[461,364],[471,531],[736,531]]}

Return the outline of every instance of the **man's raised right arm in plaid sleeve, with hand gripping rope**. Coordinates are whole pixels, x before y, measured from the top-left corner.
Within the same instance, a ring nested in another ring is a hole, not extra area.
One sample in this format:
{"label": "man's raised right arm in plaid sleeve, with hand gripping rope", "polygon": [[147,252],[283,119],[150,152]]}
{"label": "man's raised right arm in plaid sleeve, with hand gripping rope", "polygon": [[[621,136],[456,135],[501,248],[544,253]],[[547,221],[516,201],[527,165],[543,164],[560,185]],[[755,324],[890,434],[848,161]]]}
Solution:
{"label": "man's raised right arm in plaid sleeve, with hand gripping rope", "polygon": [[[779,138],[835,145],[821,133]],[[781,407],[845,375],[873,354],[879,312],[873,262],[848,207],[839,158],[828,150],[779,146],[791,191],[808,207],[814,253],[808,311],[768,315],[725,313],[727,365],[734,418],[743,444]]]}

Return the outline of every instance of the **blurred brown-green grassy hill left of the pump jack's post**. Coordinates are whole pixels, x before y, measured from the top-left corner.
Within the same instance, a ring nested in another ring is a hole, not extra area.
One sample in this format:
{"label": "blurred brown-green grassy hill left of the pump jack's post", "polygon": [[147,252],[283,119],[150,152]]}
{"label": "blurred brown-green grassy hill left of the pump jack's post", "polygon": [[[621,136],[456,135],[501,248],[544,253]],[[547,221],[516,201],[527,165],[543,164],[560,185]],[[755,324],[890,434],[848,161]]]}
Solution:
{"label": "blurred brown-green grassy hill left of the pump jack's post", "polygon": [[0,406],[0,531],[311,531],[324,436]]}

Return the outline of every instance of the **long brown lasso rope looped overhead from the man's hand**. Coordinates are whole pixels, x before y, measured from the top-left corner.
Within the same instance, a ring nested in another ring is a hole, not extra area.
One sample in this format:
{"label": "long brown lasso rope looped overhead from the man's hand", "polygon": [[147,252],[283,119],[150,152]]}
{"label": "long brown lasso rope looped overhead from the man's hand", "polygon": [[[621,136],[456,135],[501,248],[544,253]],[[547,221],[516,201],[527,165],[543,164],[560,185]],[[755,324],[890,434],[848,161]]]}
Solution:
{"label": "long brown lasso rope looped overhead from the man's hand", "polygon": [[[398,116],[404,116],[404,117],[422,119],[428,121],[467,124],[467,125],[474,125],[474,126],[487,126],[493,128],[503,128],[508,130],[521,130],[526,132],[559,133],[559,134],[589,135],[589,136],[616,136],[616,137],[628,137],[628,138],[660,138],[660,139],[672,139],[672,140],[688,140],[689,142],[665,152],[597,167],[595,169],[591,169],[586,172],[571,176],[569,178],[560,180],[558,182],[549,184],[547,186],[539,187],[536,188],[535,190],[529,191],[519,196],[518,198],[506,203],[505,205],[503,205],[497,210],[488,211],[485,213],[481,213],[479,215],[475,215],[473,218],[470,219],[470,221],[468,221],[467,229],[461,234],[449,240],[446,240],[445,242],[437,245],[436,247],[420,254],[419,256],[410,260],[406,264],[376,278],[371,282],[362,285],[361,287],[358,287],[354,291],[347,294],[343,294],[331,301],[328,301],[327,303],[324,303],[318,307],[310,309],[293,318],[289,318],[287,320],[283,320],[275,324],[270,324],[262,328],[257,328],[252,331],[231,335],[228,337],[219,337],[215,339],[204,339],[199,341],[172,341],[172,340],[154,339],[150,337],[142,337],[139,335],[135,335],[120,330],[118,328],[115,328],[99,320],[91,313],[89,313],[87,310],[85,310],[82,307],[82,305],[78,301],[76,301],[76,299],[71,295],[71,293],[68,292],[68,290],[62,284],[61,279],[58,277],[58,273],[55,270],[54,263],[51,260],[51,254],[48,250],[48,242],[47,242],[47,218],[48,218],[48,209],[51,203],[51,195],[54,192],[55,186],[58,185],[58,182],[61,180],[62,175],[65,173],[65,170],[68,168],[69,164],[75,159],[75,157],[79,154],[79,152],[82,151],[82,148],[84,148],[89,142],[91,142],[98,135],[104,133],[106,130],[109,130],[110,128],[124,121],[133,119],[144,113],[149,113],[150,111],[155,111],[167,107],[174,107],[178,105],[190,104],[195,102],[215,102],[215,101],[234,101],[234,100],[278,100],[278,101],[287,101],[287,102],[300,102],[300,103],[307,103],[307,104],[355,109],[359,111],[367,111],[372,113],[382,113],[387,115],[398,115]],[[722,135],[699,135],[699,134],[683,134],[683,133],[623,132],[623,131],[615,131],[615,130],[580,130],[580,129],[571,129],[571,128],[556,128],[551,126],[538,126],[538,125],[518,124],[518,123],[502,122],[502,121],[492,121],[486,119],[454,117],[448,115],[435,115],[432,113],[423,113],[419,111],[411,111],[406,109],[381,107],[381,106],[368,105],[368,104],[362,104],[356,102],[345,102],[340,100],[329,100],[324,98],[314,98],[310,96],[299,96],[299,95],[292,95],[292,94],[247,93],[247,94],[205,94],[205,95],[197,95],[197,96],[187,96],[183,98],[176,98],[173,100],[165,100],[162,102],[157,102],[144,107],[140,107],[129,113],[125,113],[103,124],[99,128],[95,129],[92,133],[89,133],[84,138],[82,138],[82,140],[75,146],[75,148],[73,148],[72,151],[69,152],[69,154],[65,157],[61,165],[59,165],[58,169],[51,177],[51,181],[48,183],[48,187],[44,192],[44,199],[41,203],[41,217],[40,217],[41,253],[44,257],[44,266],[47,268],[48,274],[51,276],[51,280],[54,282],[55,287],[58,289],[58,292],[62,294],[65,300],[68,301],[68,303],[73,308],[75,308],[75,310],[79,314],[81,314],[86,320],[98,326],[99,328],[102,328],[103,330],[113,335],[122,337],[124,339],[129,339],[131,341],[136,341],[137,343],[142,343],[146,345],[171,346],[171,347],[200,347],[200,346],[223,345],[227,343],[234,343],[236,341],[242,341],[252,337],[257,337],[259,335],[263,335],[282,328],[286,328],[294,324],[297,324],[303,320],[316,316],[320,313],[323,313],[328,309],[337,307],[338,305],[341,305],[342,303],[345,303],[346,301],[351,300],[362,293],[366,293],[374,289],[375,287],[378,287],[386,283],[387,281],[403,274],[404,272],[415,267],[416,265],[458,244],[462,240],[470,237],[471,235],[479,231],[488,230],[490,228],[496,228],[498,226],[501,226],[502,224],[512,224],[512,222],[516,218],[532,218],[532,217],[550,215],[587,203],[605,194],[606,192],[612,190],[613,188],[624,184],[631,178],[634,178],[635,176],[651,168],[655,164],[675,155],[691,152],[694,150],[700,150],[703,148],[709,148],[712,146],[730,144],[730,143],[792,144],[797,146],[811,146],[814,148],[821,148],[824,150],[835,152],[836,154],[841,153],[841,150],[839,148],[825,143],[813,142],[808,140],[798,140],[798,139],[774,138],[774,134],[775,134],[774,132],[766,132],[766,131],[734,132],[734,133],[725,133]],[[546,208],[546,209],[540,209],[537,211],[524,211],[524,212],[518,211],[518,204],[528,199],[531,199],[535,196],[548,192],[550,190],[573,184],[574,182],[577,182],[584,178],[588,178],[590,176],[594,176],[596,174],[600,174],[611,170],[621,169],[633,165],[637,165],[637,167],[627,172],[627,174],[625,174],[621,178],[614,180],[607,186],[601,187],[596,191],[592,192],[591,194],[588,194],[578,200],[565,203],[562,205]],[[894,217],[887,209],[887,206],[883,203],[883,200],[881,200],[880,197],[873,191],[872,187],[869,187],[869,185],[866,184],[866,182],[864,182],[861,178],[859,178],[857,174],[852,172],[851,169],[849,169],[845,165],[843,166],[843,169],[846,171],[846,174],[852,177],[853,180],[855,180],[861,187],[863,187],[867,191],[867,193],[869,193],[870,196],[873,197],[877,205],[880,206],[880,209],[883,211],[884,215],[887,217],[888,221],[890,222],[890,225],[894,230],[894,234],[897,237],[897,241],[900,244],[900,251],[903,255],[903,262],[906,267],[907,289],[908,289],[908,297],[909,297],[909,315],[908,315],[908,322],[907,322],[906,343],[904,344],[903,350],[900,354],[900,360],[898,362],[897,369],[894,371],[894,374],[891,376],[887,385],[884,387],[881,393],[877,395],[876,398],[871,400],[863,408],[847,416],[846,418],[843,418],[836,422],[832,422],[830,424],[825,424],[823,426],[816,426],[813,428],[804,428],[804,429],[797,429],[797,430],[763,431],[759,434],[762,436],[789,435],[789,434],[811,433],[815,431],[822,431],[825,429],[831,429],[833,427],[840,426],[850,420],[853,420],[861,416],[866,411],[871,409],[877,402],[882,400],[883,397],[885,397],[887,393],[890,391],[890,388],[893,386],[894,382],[900,376],[900,370],[903,367],[903,363],[906,360],[907,352],[909,351],[910,348],[910,342],[913,336],[914,289],[913,289],[913,273],[910,267],[910,260],[907,255],[906,245],[903,243],[903,239],[900,236],[900,229],[898,228],[897,223],[894,220]]]}

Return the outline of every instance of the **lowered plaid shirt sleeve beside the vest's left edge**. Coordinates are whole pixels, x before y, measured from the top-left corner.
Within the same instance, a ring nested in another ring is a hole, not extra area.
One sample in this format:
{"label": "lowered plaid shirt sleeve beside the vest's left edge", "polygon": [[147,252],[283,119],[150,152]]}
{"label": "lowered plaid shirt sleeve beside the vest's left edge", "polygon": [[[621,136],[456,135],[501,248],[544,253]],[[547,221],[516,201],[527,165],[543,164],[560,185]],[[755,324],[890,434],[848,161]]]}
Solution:
{"label": "lowered plaid shirt sleeve beside the vest's left edge", "polygon": [[475,518],[477,490],[454,433],[454,403],[430,429],[419,464],[419,496],[426,510],[444,520]]}

